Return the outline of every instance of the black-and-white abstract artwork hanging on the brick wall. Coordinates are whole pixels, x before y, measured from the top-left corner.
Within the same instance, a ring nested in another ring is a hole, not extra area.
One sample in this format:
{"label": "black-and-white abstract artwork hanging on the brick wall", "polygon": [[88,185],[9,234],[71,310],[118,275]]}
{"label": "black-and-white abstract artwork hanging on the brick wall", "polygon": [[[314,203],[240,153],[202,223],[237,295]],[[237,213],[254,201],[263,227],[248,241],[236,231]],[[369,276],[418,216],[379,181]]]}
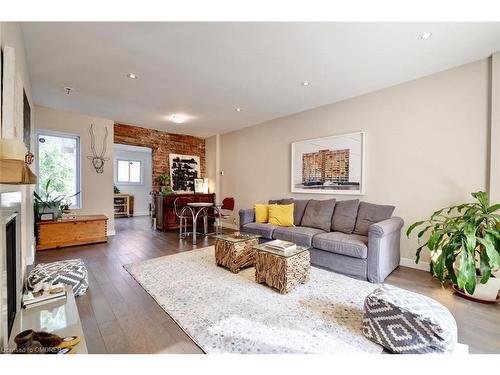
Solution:
{"label": "black-and-white abstract artwork hanging on the brick wall", "polygon": [[177,193],[194,193],[194,179],[200,176],[200,157],[192,155],[169,155],[170,181]]}

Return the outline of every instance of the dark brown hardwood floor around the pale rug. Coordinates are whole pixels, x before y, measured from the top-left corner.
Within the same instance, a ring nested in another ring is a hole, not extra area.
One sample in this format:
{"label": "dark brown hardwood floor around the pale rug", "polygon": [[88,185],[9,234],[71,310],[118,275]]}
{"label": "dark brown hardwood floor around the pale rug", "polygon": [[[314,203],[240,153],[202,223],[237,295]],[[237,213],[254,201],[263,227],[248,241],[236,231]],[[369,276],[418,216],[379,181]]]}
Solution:
{"label": "dark brown hardwood floor around the pale rug", "polygon": [[[148,217],[115,220],[117,234],[106,244],[37,253],[36,261],[81,258],[90,287],[76,299],[89,353],[203,353],[122,267],[124,264],[210,246],[178,240],[178,232],[151,229]],[[436,299],[455,316],[459,342],[471,353],[500,353],[500,305],[467,301],[442,289],[427,272],[399,267],[387,283]]]}

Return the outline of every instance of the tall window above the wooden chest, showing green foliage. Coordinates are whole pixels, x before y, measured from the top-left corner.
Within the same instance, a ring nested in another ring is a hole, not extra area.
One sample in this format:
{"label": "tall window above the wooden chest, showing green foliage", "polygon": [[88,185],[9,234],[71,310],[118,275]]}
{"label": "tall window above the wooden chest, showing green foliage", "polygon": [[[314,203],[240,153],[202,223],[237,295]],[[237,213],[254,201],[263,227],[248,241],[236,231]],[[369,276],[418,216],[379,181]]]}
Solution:
{"label": "tall window above the wooden chest, showing green foliage", "polygon": [[38,193],[42,197],[50,193],[52,198],[66,195],[71,207],[79,208],[81,194],[73,195],[80,191],[80,137],[40,130],[37,156]]}

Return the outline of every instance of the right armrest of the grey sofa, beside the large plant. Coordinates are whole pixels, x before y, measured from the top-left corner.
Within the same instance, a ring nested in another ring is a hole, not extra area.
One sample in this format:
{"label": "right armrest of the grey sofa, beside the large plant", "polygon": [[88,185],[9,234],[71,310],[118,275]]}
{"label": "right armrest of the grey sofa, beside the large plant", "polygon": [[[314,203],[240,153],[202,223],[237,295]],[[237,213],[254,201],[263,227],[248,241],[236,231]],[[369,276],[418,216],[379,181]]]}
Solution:
{"label": "right armrest of the grey sofa, beside the large plant", "polygon": [[399,265],[401,228],[400,217],[370,225],[368,231],[367,278],[372,283],[381,283]]}

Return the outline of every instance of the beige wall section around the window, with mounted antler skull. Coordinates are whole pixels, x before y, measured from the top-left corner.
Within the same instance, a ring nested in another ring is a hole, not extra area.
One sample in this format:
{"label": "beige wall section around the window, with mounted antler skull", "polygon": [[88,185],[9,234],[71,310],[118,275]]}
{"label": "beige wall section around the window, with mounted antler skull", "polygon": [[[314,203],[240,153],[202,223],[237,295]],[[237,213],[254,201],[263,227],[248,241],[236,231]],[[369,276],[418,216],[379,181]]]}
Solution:
{"label": "beige wall section around the window, with mounted antler skull", "polygon": [[[54,130],[80,136],[81,150],[81,208],[73,210],[79,215],[103,214],[108,217],[108,235],[115,233],[113,213],[113,120],[63,112],[47,107],[35,106],[37,129]],[[102,149],[104,128],[108,129],[104,172],[95,171],[87,156],[90,149],[90,124],[94,124],[97,151]]]}

